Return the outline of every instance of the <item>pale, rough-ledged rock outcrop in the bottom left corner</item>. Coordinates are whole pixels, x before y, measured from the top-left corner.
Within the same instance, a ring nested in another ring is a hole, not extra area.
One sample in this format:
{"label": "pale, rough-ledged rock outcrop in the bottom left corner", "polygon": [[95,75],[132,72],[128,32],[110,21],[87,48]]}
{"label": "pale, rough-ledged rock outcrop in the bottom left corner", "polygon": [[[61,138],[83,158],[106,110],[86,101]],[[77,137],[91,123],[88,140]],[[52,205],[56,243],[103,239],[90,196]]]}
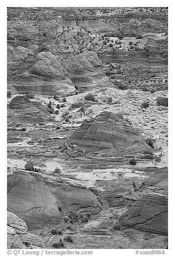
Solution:
{"label": "pale, rough-ledged rock outcrop in the bottom left corner", "polygon": [[27,225],[23,219],[20,219],[18,216],[8,211],[7,221],[8,249],[45,247],[40,237],[28,233]]}

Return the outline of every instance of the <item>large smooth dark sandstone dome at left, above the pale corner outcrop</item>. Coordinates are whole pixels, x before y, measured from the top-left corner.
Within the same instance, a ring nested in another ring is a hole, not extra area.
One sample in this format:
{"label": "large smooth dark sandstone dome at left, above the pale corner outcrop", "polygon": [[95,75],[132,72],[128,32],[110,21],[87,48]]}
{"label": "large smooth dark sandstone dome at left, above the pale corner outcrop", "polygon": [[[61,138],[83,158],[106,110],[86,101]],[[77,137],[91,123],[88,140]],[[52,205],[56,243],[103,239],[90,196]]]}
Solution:
{"label": "large smooth dark sandstone dome at left, above the pale corner outcrop", "polygon": [[8,208],[24,219],[28,228],[62,224],[63,214],[58,206],[58,200],[50,193],[39,174],[21,171],[8,177]]}

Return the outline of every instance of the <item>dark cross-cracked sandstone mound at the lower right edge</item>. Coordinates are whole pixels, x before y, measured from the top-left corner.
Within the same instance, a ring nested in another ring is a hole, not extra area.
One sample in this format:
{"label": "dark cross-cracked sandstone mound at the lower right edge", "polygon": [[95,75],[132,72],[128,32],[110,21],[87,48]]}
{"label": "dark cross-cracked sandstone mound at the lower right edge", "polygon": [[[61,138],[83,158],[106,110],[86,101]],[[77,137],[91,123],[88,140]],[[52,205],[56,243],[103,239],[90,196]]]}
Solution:
{"label": "dark cross-cracked sandstone mound at the lower right edge", "polygon": [[144,195],[120,218],[123,226],[167,236],[167,196]]}

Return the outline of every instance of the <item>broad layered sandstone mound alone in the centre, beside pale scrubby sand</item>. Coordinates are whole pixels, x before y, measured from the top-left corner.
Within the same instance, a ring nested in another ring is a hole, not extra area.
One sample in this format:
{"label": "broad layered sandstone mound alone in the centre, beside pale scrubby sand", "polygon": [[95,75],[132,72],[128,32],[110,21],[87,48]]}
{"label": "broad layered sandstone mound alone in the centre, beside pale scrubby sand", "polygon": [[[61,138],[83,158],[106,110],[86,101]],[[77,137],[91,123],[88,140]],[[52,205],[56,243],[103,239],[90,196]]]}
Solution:
{"label": "broad layered sandstone mound alone in the centre, beside pale scrubby sand", "polygon": [[70,143],[77,145],[77,151],[99,153],[105,157],[125,157],[150,149],[136,129],[111,112],[85,120],[72,134]]}

